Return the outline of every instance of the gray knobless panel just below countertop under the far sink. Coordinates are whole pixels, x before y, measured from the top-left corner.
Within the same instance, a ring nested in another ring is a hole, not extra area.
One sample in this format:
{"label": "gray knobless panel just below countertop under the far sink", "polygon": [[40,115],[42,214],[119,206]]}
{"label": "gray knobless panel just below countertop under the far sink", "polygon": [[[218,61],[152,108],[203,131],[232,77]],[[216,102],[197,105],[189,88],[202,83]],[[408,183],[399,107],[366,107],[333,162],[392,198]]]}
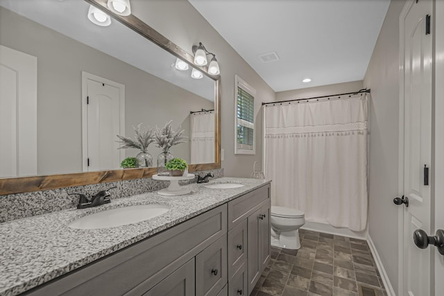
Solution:
{"label": "gray knobless panel just below countertop under the far sink", "polygon": [[228,202],[228,230],[257,210],[259,203],[270,198],[270,184]]}

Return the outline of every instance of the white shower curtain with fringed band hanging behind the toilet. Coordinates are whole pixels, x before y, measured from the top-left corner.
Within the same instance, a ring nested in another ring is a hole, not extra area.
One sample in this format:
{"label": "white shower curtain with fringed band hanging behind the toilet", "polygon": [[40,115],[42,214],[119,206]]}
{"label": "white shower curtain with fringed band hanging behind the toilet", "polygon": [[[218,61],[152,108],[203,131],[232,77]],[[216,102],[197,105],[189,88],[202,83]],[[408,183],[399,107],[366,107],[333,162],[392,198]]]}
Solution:
{"label": "white shower curtain with fringed band hanging behind the toilet", "polygon": [[[299,102],[299,103],[298,103]],[[361,231],[367,223],[366,95],[264,105],[272,205],[307,221]]]}

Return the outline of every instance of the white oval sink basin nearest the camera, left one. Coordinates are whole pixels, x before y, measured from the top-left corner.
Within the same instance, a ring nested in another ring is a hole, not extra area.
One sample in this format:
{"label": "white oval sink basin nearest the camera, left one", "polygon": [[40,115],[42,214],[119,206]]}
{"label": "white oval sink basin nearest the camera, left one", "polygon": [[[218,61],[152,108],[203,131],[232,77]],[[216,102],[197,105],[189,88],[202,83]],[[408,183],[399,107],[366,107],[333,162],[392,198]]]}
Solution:
{"label": "white oval sink basin nearest the camera, left one", "polygon": [[83,216],[82,218],[71,222],[68,226],[77,229],[110,228],[152,219],[169,210],[170,207],[168,205],[157,204],[118,207],[117,209]]}

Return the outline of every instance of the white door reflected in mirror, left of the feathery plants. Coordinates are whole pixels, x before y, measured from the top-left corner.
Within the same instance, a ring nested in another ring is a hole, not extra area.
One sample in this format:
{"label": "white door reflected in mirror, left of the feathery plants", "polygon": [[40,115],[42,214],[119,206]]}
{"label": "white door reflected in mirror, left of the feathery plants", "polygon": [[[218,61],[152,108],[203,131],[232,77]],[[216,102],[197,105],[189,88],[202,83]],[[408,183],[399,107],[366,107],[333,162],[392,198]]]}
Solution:
{"label": "white door reflected in mirror, left of the feathery plants", "polygon": [[87,171],[119,169],[120,90],[87,79]]}

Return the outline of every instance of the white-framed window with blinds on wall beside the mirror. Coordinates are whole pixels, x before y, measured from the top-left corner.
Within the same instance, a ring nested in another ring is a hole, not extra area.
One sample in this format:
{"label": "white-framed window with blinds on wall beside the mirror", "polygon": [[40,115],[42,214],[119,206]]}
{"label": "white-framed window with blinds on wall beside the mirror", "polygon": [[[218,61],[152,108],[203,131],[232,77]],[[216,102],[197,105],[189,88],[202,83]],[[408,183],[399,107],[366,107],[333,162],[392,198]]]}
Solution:
{"label": "white-framed window with blinds on wall beside the mirror", "polygon": [[235,86],[234,154],[255,154],[255,95],[256,91],[239,76]]}

